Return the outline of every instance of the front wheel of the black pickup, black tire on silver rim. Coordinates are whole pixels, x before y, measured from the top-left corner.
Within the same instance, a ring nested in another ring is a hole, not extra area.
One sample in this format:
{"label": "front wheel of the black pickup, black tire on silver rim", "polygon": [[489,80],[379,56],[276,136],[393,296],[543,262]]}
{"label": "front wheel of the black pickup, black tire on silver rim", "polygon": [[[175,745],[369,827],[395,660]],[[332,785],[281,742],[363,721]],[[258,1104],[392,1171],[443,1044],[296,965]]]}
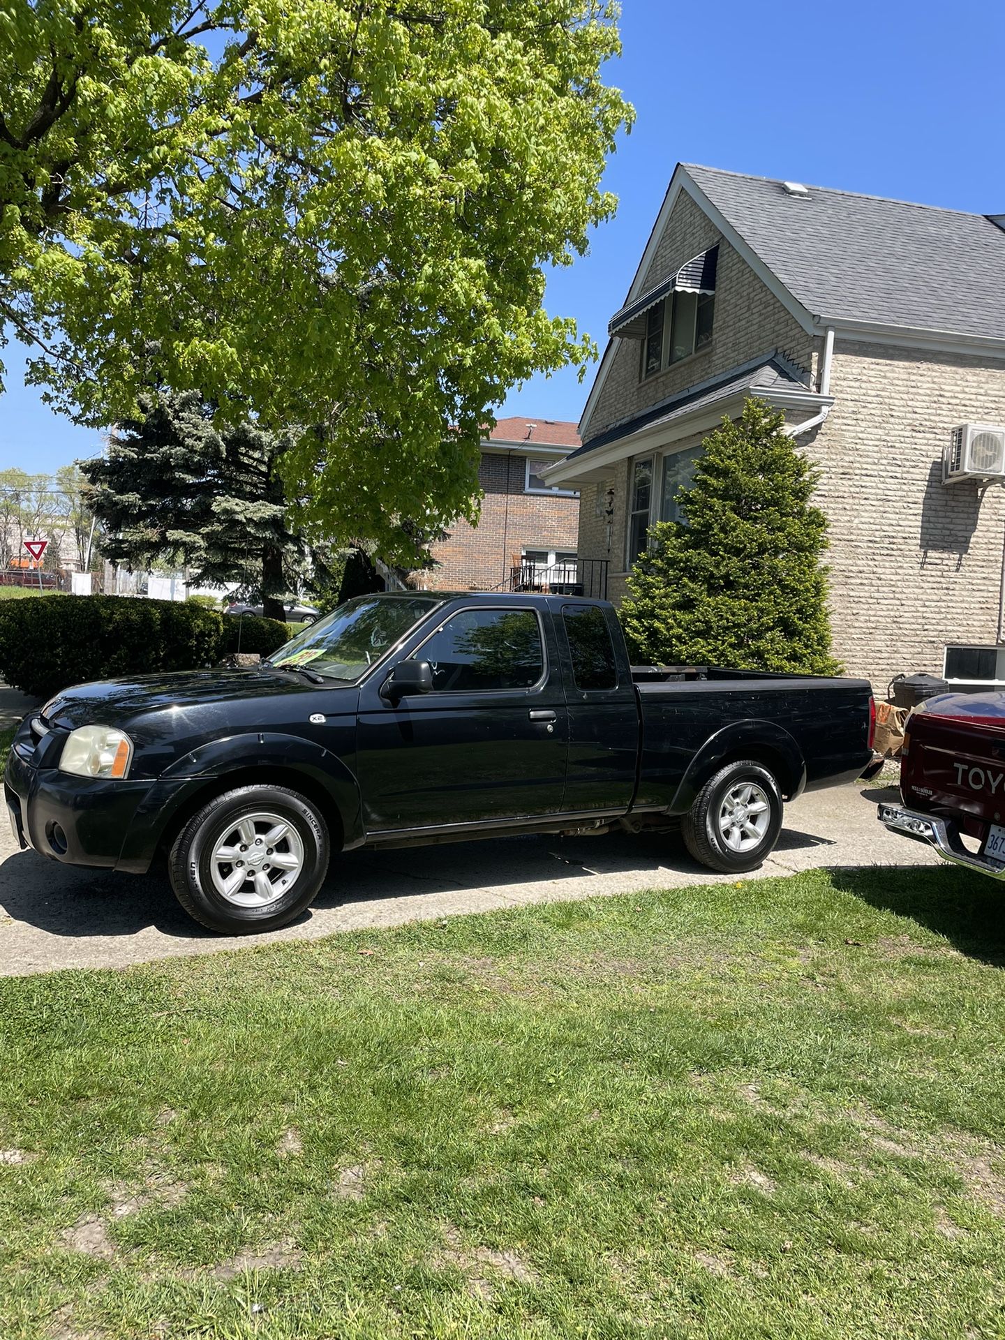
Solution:
{"label": "front wheel of the black pickup, black tire on silver rim", "polygon": [[[253,816],[259,816],[257,823]],[[275,829],[269,829],[264,816],[275,816],[287,825],[276,840],[276,852],[287,859],[283,870],[276,868],[277,860],[275,864],[268,862],[272,850],[264,847],[264,838]],[[236,858],[232,864],[218,859],[213,862],[213,854],[221,844],[228,851],[248,850],[228,842],[230,835],[240,842],[241,820],[245,821],[245,835],[256,833],[251,850],[259,864],[253,866],[253,859],[248,859],[245,867],[243,858]],[[263,847],[261,856],[257,847]],[[285,926],[311,906],[328,871],[330,847],[324,816],[296,791],[287,787],[237,787],[214,796],[189,819],[174,839],[168,871],[174,896],[189,917],[224,935],[251,935]],[[236,880],[239,864],[248,871],[245,882],[233,890],[230,898],[224,896],[214,883],[214,870],[221,880]],[[265,874],[267,870],[269,874]],[[260,896],[256,871],[273,882],[275,888],[265,895],[269,900],[259,906],[252,902]],[[287,880],[288,887],[284,887]],[[245,906],[233,900],[241,898],[247,900]]]}

